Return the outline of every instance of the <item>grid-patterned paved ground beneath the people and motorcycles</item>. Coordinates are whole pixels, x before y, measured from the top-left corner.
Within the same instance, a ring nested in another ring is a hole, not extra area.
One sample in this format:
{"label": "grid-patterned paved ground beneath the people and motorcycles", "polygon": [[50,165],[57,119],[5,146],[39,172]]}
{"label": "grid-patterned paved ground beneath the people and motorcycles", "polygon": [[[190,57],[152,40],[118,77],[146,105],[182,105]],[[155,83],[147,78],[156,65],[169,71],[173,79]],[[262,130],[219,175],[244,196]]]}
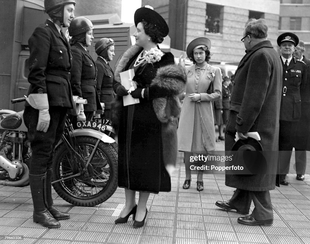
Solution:
{"label": "grid-patterned paved ground beneath the people and motorcycles", "polygon": [[[218,142],[218,149],[224,148]],[[189,190],[182,189],[185,169],[179,153],[171,178],[171,192],[151,194],[148,215],[143,228],[134,229],[132,219],[115,225],[125,196],[123,189],[95,207],[73,206],[53,192],[54,203],[68,212],[70,220],[61,220],[61,228],[48,229],[32,221],[29,186],[0,186],[0,236],[23,235],[24,240],[1,243],[309,243],[310,242],[310,175],[304,181],[295,179],[291,160],[289,186],[272,190],[274,222],[272,226],[247,226],[237,223],[235,211],[223,211],[217,200],[228,200],[233,190],[225,186],[224,175],[204,175],[204,191],[196,190],[196,175]],[[309,155],[307,155],[309,157]],[[137,195],[138,197],[138,195]],[[138,202],[138,199],[137,199]],[[253,207],[253,206],[252,206]]]}

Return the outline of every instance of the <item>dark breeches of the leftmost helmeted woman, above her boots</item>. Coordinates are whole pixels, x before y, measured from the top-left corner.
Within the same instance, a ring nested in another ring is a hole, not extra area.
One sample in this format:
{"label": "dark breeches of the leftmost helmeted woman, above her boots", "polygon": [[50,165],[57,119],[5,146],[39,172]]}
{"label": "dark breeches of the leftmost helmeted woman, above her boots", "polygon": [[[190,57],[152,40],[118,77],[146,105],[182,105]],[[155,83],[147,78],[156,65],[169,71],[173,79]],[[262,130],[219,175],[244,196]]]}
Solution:
{"label": "dark breeches of the leftmost helmeted woman, above her boots", "polygon": [[31,175],[42,175],[51,168],[55,146],[64,133],[67,108],[51,106],[49,114],[50,125],[47,132],[43,132],[37,131],[39,110],[31,106],[24,110],[23,118],[28,128],[27,137],[32,151],[29,168]]}

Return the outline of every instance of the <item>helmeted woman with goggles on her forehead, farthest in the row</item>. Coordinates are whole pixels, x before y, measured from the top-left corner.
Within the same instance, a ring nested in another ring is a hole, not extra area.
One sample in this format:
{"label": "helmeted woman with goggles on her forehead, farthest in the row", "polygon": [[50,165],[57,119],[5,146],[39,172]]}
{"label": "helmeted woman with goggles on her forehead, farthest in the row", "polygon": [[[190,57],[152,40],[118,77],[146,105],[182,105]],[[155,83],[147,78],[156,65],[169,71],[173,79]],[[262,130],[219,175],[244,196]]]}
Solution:
{"label": "helmeted woman with goggles on her forehead, farthest in the row", "polygon": [[98,58],[95,62],[97,65],[97,92],[100,98],[100,102],[104,103],[104,115],[102,118],[110,118],[111,102],[114,100],[115,95],[113,93],[113,77],[114,73],[108,64],[113,60],[114,53],[114,41],[111,38],[101,38],[95,44],[95,52]]}

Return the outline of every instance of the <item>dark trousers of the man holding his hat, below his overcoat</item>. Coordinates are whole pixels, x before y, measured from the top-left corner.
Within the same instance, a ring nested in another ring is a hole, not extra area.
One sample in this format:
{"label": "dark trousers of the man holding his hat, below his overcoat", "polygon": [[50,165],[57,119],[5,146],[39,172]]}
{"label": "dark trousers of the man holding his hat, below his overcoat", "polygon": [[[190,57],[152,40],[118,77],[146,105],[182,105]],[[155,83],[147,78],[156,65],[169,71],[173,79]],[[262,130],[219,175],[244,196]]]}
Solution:
{"label": "dark trousers of the man holding his hat, below his overcoat", "polygon": [[257,192],[236,189],[230,204],[236,207],[242,213],[250,211],[251,202],[253,201],[255,208],[251,215],[255,220],[273,219],[272,204],[269,191]]}

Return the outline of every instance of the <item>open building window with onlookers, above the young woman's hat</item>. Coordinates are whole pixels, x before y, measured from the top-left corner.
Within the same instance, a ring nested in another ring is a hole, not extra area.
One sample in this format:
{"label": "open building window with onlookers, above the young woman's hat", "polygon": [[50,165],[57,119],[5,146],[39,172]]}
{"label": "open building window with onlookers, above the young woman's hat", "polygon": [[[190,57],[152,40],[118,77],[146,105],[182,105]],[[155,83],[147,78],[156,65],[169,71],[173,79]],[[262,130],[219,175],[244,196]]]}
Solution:
{"label": "open building window with onlookers, above the young woman's hat", "polygon": [[223,27],[223,6],[206,4],[205,32],[221,33]]}

